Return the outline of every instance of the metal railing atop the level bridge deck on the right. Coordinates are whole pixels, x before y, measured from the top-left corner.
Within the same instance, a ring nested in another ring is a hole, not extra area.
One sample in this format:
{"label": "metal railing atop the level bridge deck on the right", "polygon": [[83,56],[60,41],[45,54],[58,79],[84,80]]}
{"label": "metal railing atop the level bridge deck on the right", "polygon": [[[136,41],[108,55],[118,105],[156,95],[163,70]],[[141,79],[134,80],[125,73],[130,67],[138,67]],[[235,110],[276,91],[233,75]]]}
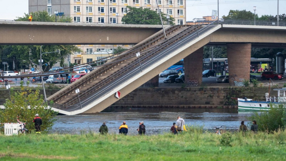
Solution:
{"label": "metal railing atop the level bridge deck on the right", "polygon": [[286,26],[286,21],[220,19],[220,24]]}

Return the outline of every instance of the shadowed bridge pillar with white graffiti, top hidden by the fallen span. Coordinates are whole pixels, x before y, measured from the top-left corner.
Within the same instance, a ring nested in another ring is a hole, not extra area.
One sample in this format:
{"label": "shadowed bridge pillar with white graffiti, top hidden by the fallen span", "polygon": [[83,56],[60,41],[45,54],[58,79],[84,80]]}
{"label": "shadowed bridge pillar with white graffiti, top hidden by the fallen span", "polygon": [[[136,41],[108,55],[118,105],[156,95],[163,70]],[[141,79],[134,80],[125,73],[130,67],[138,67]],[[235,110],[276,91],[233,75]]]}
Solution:
{"label": "shadowed bridge pillar with white graffiti, top hidden by the fallen span", "polygon": [[184,58],[185,84],[200,86],[202,84],[203,47]]}

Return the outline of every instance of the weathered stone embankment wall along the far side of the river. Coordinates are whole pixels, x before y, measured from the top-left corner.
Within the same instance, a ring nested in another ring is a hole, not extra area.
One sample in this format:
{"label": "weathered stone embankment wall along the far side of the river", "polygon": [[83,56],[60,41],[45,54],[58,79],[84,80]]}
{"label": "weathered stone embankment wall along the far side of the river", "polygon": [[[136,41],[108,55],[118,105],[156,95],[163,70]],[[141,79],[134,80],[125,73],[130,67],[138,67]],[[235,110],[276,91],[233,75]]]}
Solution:
{"label": "weathered stone embankment wall along the far side of the river", "polygon": [[[47,97],[59,89],[47,89]],[[231,97],[265,100],[267,87],[187,87],[187,88],[137,88],[122,97],[112,108],[236,108]],[[273,90],[270,96],[277,96]],[[42,92],[41,92],[42,94]],[[9,99],[6,89],[0,90],[0,99]]]}

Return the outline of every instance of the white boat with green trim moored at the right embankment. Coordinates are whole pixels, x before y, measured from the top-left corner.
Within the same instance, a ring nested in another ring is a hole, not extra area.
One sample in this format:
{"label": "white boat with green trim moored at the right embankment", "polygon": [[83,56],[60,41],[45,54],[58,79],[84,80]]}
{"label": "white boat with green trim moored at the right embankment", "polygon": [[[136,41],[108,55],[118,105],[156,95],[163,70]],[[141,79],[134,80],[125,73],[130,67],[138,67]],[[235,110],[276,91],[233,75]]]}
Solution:
{"label": "white boat with green trim moored at the right embankment", "polygon": [[238,101],[238,110],[239,111],[260,111],[270,109],[271,104],[273,105],[286,105],[286,88],[282,89],[273,89],[278,92],[276,96],[269,96],[269,93],[265,93],[265,101],[253,100],[248,98],[233,98]]}

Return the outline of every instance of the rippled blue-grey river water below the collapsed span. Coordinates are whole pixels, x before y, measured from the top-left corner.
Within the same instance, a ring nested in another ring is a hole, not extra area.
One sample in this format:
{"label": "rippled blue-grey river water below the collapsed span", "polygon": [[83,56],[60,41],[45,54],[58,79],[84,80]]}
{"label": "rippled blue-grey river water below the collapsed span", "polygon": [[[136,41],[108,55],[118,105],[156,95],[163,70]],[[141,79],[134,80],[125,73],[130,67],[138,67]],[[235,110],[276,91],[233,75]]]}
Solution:
{"label": "rippled blue-grey river water below the collapsed span", "polygon": [[237,109],[115,109],[94,115],[56,116],[57,121],[49,133],[98,133],[102,122],[105,121],[109,133],[117,134],[121,123],[126,121],[128,134],[136,135],[139,121],[144,121],[147,135],[163,134],[170,132],[178,115],[188,126],[204,126],[204,129],[208,130],[213,130],[215,126],[225,126],[226,129],[236,130],[240,122],[247,122],[247,117],[251,114],[253,112],[237,112]]}

